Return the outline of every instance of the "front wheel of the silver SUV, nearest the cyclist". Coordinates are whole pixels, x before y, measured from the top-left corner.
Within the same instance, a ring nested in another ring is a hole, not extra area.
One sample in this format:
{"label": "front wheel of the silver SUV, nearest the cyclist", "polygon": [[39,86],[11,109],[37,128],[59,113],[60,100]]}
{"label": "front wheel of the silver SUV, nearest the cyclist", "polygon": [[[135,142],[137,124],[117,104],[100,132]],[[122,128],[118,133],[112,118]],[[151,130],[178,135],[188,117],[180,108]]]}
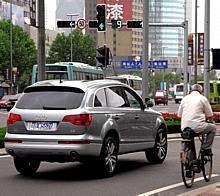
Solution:
{"label": "front wheel of the silver SUV, nearest the cyclist", "polygon": [[162,163],[167,155],[167,132],[159,128],[153,148],[145,151],[146,158],[151,163]]}

